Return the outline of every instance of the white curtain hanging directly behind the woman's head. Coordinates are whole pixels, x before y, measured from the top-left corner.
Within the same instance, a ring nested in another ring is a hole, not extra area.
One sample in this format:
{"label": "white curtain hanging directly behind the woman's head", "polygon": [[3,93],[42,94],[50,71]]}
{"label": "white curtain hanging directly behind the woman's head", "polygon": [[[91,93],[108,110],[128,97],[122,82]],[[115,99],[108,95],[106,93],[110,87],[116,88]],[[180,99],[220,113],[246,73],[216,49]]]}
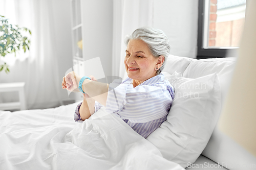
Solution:
{"label": "white curtain hanging directly behind the woman's head", "polygon": [[127,77],[124,38],[140,27],[153,25],[153,0],[114,0],[112,75]]}

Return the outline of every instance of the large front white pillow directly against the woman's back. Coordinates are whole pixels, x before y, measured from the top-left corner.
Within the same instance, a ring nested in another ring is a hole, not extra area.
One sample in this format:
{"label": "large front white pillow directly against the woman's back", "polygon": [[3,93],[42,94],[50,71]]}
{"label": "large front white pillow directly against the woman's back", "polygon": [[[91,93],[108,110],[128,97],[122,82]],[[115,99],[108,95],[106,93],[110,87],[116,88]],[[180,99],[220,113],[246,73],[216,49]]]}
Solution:
{"label": "large front white pillow directly against the woman's back", "polygon": [[173,105],[167,120],[147,140],[164,158],[186,167],[200,156],[216,126],[221,111],[220,83],[217,74],[169,78],[175,90]]}

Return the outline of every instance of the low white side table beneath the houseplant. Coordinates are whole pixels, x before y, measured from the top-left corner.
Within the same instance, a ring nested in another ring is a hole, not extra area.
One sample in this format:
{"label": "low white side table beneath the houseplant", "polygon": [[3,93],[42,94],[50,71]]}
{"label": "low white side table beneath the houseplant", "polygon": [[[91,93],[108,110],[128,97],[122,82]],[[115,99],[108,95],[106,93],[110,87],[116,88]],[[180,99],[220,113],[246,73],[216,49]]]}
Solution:
{"label": "low white side table beneath the houseplant", "polygon": [[18,91],[19,102],[0,103],[0,110],[27,110],[25,98],[25,82],[0,83],[0,92]]}

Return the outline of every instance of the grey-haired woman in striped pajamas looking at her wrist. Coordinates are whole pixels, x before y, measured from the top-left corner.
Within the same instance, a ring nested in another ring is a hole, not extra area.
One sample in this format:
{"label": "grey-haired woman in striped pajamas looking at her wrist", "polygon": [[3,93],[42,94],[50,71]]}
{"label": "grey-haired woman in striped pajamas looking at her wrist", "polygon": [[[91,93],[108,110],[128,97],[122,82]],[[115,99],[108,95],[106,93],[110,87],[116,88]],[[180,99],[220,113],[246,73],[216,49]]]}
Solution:
{"label": "grey-haired woman in striped pajamas looking at her wrist", "polygon": [[127,36],[125,42],[128,78],[121,84],[100,83],[93,76],[82,78],[70,72],[63,78],[62,88],[79,92],[79,86],[84,93],[74,114],[76,122],[106,107],[146,138],[166,120],[174,99],[173,86],[161,74],[169,55],[169,40],[163,31],[144,27]]}

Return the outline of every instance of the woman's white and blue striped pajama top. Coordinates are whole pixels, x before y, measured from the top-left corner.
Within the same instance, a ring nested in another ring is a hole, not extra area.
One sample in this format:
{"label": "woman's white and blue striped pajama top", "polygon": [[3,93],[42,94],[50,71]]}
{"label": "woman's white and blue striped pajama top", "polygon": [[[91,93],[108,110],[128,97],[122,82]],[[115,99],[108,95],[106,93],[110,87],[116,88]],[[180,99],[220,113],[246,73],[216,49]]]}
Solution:
{"label": "woman's white and blue striped pajama top", "polygon": [[[138,134],[146,138],[166,120],[174,99],[174,88],[162,74],[154,76],[136,87],[131,78],[109,85],[106,111],[115,113]],[[78,104],[74,119],[83,122]],[[95,102],[95,112],[104,107]]]}

